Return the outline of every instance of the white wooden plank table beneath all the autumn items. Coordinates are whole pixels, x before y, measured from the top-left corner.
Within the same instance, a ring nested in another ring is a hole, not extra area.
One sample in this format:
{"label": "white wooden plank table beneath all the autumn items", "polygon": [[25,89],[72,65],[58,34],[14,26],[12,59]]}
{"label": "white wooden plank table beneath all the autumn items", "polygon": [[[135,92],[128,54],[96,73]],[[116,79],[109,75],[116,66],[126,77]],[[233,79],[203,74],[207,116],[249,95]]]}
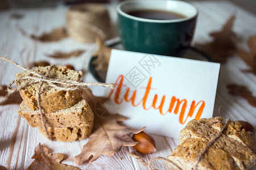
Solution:
{"label": "white wooden plank table beneath all the autumn items", "polygon": [[[222,24],[232,14],[236,14],[237,19],[234,24],[234,31],[237,33],[237,43],[241,48],[247,49],[248,37],[256,34],[256,17],[249,12],[242,10],[231,2],[227,1],[189,1],[199,9],[199,19],[197,23],[195,39],[193,42],[203,43],[210,40],[209,32],[219,30]],[[113,3],[108,5],[110,15],[116,23],[117,15]],[[52,28],[65,25],[65,12],[67,8],[59,6],[57,8],[40,8],[26,10],[0,11],[0,55],[7,54],[11,59],[27,65],[34,61],[46,60],[59,65],[72,64],[76,70],[83,70],[83,80],[85,82],[96,82],[96,79],[89,73],[88,63],[90,57],[96,50],[94,44],[79,44],[71,38],[57,42],[43,43],[24,37],[17,29],[16,24],[26,29],[28,33],[40,35],[42,32],[51,31]],[[13,13],[23,14],[19,20],[11,19]],[[86,53],[77,58],[53,59],[46,57],[46,53],[54,50],[69,52],[75,49],[86,49]],[[246,85],[250,91],[256,95],[256,76],[250,73],[242,73],[241,69],[248,66],[239,57],[234,56],[228,59],[226,64],[221,65],[220,78],[218,81],[214,116],[231,118],[232,120],[244,120],[256,127],[256,108],[252,107],[240,97],[232,96],[228,93],[226,85],[238,83]],[[15,74],[21,71],[9,63],[0,63],[0,84],[9,84],[15,79]],[[101,94],[101,88],[93,87],[94,94]],[[221,108],[220,108],[221,107]],[[26,169],[31,164],[34,155],[34,148],[38,143],[42,143],[51,148],[54,153],[62,153],[67,158],[63,163],[76,166],[73,156],[80,153],[81,148],[87,139],[76,142],[51,142],[48,141],[39,130],[28,126],[27,122],[20,118],[16,112],[18,105],[5,105],[0,107],[0,165],[9,169]],[[218,112],[220,108],[220,113]],[[152,155],[145,155],[147,161],[156,156],[167,157],[179,144],[177,139],[166,138],[153,135],[156,140],[158,151]],[[120,152],[114,154],[112,158],[101,156],[91,164],[79,166],[80,169],[146,169],[137,160],[127,156],[126,151],[131,151],[130,147],[123,147]],[[121,159],[120,159],[121,158]],[[163,162],[155,162],[155,168],[167,169]],[[256,169],[255,167],[251,169]]]}

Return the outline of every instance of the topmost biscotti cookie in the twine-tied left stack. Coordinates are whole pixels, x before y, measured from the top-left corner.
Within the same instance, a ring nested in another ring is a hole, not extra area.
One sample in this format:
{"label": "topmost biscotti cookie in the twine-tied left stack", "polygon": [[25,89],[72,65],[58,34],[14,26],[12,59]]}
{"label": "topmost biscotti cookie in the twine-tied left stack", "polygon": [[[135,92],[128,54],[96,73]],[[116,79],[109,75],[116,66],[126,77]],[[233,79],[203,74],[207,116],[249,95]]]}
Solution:
{"label": "topmost biscotti cookie in the twine-tied left stack", "polygon": [[[33,67],[31,70],[39,73],[41,75],[45,75],[48,73],[50,66],[46,67]],[[30,73],[28,71],[23,71],[16,74],[16,78],[19,76],[28,76]],[[30,75],[33,76],[33,75]],[[49,73],[49,78],[57,78],[57,79],[69,79],[79,81],[82,76],[81,71],[75,71],[68,69],[66,66],[56,66],[54,67],[51,72]],[[19,80],[17,83],[18,86],[27,83],[28,79]],[[19,90],[20,96],[26,103],[28,107],[35,111],[38,109],[38,103],[36,100],[36,91],[38,91],[39,83],[33,83],[29,86]],[[80,100],[82,95],[82,90],[73,90],[73,91],[63,91],[63,90],[56,90],[48,86],[47,83],[44,83],[41,92],[40,92],[40,99],[41,105],[44,112],[55,112],[59,111],[60,109],[69,108],[77,101]]]}

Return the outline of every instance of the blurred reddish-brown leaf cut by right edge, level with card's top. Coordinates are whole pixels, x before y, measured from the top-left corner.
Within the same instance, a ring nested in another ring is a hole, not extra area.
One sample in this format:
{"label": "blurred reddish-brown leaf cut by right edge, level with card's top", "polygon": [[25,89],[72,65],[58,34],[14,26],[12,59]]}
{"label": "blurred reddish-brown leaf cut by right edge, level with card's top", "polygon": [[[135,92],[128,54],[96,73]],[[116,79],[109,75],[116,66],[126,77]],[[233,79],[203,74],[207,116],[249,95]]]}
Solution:
{"label": "blurred reddish-brown leaf cut by right edge, level with card's top", "polygon": [[247,44],[250,52],[246,52],[246,50],[243,49],[238,49],[238,56],[240,56],[243,61],[245,61],[247,65],[251,67],[250,70],[245,71],[252,72],[256,75],[256,35],[250,37]]}

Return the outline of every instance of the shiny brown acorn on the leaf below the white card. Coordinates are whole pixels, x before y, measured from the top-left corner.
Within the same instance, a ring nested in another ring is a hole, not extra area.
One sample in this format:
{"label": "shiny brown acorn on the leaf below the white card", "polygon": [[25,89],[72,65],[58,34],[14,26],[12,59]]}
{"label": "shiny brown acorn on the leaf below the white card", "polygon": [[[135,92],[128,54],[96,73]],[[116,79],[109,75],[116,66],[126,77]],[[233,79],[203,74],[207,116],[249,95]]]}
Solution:
{"label": "shiny brown acorn on the leaf below the white card", "polygon": [[135,150],[142,154],[153,154],[156,151],[155,140],[150,134],[143,131],[133,135],[133,141],[138,142],[135,146]]}

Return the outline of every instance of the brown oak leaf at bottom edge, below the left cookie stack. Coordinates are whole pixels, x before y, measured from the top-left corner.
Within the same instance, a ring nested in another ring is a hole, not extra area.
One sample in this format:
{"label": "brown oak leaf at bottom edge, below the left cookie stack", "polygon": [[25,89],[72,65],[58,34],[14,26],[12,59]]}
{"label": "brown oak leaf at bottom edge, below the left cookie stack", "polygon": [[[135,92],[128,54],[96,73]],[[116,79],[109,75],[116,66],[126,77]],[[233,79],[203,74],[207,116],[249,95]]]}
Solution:
{"label": "brown oak leaf at bottom edge, below the left cookie stack", "polygon": [[27,170],[33,169],[68,169],[68,170],[78,170],[79,168],[61,164],[60,162],[64,159],[63,154],[52,154],[49,152],[48,148],[44,145],[39,145],[35,147],[35,154],[32,156],[35,159]]}

